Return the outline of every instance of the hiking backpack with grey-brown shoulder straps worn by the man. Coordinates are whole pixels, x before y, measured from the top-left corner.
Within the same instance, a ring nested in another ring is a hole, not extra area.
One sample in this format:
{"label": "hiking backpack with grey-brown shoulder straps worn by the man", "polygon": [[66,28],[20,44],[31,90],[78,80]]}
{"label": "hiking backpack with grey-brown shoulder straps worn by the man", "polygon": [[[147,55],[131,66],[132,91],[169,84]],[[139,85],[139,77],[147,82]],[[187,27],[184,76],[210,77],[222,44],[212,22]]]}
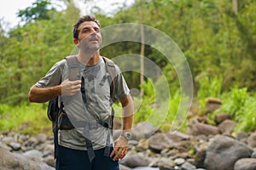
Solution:
{"label": "hiking backpack with grey-brown shoulder straps worn by the man", "polygon": [[[108,80],[110,82],[110,97],[113,102],[116,100],[114,97],[114,91],[115,91],[115,77],[116,77],[116,68],[115,64],[111,59],[108,59],[106,57],[102,57],[104,60],[104,63],[106,65],[106,70],[108,71],[110,75],[110,79]],[[74,81],[78,80],[78,73],[79,73],[79,61],[75,55],[67,56],[65,57],[67,59],[67,66],[68,66],[68,72],[69,72],[69,80]],[[113,107],[112,107],[112,117],[114,115]],[[48,110],[47,110],[47,116],[52,122],[52,131],[54,133],[54,143],[55,143],[55,158],[57,157],[57,144],[58,144],[58,129],[73,129],[72,123],[69,121],[67,114],[64,110],[63,102],[59,101],[59,97],[56,97],[54,99],[49,100]],[[112,122],[110,122],[110,127],[113,127],[113,118]]]}

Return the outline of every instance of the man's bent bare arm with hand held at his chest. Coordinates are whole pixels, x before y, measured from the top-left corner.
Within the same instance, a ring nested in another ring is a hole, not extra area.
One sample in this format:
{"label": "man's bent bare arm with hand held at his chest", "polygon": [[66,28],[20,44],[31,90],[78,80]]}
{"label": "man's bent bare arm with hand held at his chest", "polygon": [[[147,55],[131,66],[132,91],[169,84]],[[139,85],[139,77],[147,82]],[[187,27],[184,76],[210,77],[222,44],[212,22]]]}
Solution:
{"label": "man's bent bare arm with hand held at his chest", "polygon": [[32,86],[28,94],[30,102],[44,103],[49,99],[53,99],[59,95],[73,95],[79,92],[81,88],[81,81],[68,81],[67,79],[60,85],[49,88],[38,88]]}

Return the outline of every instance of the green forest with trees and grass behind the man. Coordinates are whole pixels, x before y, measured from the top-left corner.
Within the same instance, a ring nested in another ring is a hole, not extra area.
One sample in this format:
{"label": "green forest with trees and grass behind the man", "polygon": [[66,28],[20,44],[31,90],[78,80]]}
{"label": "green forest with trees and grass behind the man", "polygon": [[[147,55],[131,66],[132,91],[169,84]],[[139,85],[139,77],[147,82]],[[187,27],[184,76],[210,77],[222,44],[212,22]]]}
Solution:
{"label": "green forest with trees and grass behind the man", "polygon": [[[31,86],[44,77],[55,62],[74,48],[73,23],[80,9],[72,0],[59,0],[65,9],[57,10],[48,0],[37,0],[20,10],[20,25],[9,31],[0,20],[0,131],[50,133],[47,103],[31,104],[27,94]],[[96,4],[96,1],[81,0]],[[204,114],[205,99],[221,99],[222,107],[212,113],[226,112],[237,122],[236,132],[256,130],[256,2],[254,0],[136,0],[125,3],[113,14],[91,8],[101,26],[138,23],[151,26],[171,37],[183,52],[193,77],[193,101],[199,105],[197,114]],[[113,32],[114,34],[114,32]],[[140,31],[137,31],[140,37]],[[101,54],[113,58],[121,54],[142,54],[139,42],[117,42],[102,48]],[[181,103],[180,82],[173,65],[155,48],[144,46],[143,56],[158,65],[164,76],[154,78],[161,87],[163,77],[170,92],[156,105],[152,81],[140,74],[125,72],[129,88],[143,91],[135,122],[152,122],[163,130],[186,131],[188,111],[177,110]],[[137,102],[137,97],[134,97]],[[161,105],[168,105],[163,112]],[[190,105],[190,104],[188,104]],[[156,108],[156,109],[155,109]],[[119,112],[119,104],[115,104]],[[154,112],[154,116],[152,116]],[[148,117],[151,117],[148,119]],[[212,120],[211,120],[212,119]]]}

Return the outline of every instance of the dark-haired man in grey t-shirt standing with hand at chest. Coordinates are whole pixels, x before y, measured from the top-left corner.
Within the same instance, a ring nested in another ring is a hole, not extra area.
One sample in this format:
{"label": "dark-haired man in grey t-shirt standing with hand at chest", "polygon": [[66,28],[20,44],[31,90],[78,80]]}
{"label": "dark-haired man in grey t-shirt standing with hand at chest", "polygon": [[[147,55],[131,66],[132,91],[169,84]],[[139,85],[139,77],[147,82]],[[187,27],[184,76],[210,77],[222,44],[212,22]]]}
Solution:
{"label": "dark-haired man in grey t-shirt standing with hand at chest", "polygon": [[[106,155],[109,129],[90,126],[90,122],[106,120],[111,107],[110,85],[104,79],[108,71],[100,55],[102,35],[98,20],[89,15],[81,17],[73,27],[73,42],[79,48],[79,79],[68,79],[67,60],[62,59],[32,86],[29,100],[43,103],[59,96],[73,123],[73,129],[58,130],[56,169],[119,169],[118,161],[125,156],[131,137],[133,104],[129,88],[118,66],[114,65],[117,71],[114,94],[122,105],[123,132],[116,141],[110,141],[112,147]],[[85,122],[84,127],[77,123],[78,119]],[[93,153],[90,152],[90,144]]]}

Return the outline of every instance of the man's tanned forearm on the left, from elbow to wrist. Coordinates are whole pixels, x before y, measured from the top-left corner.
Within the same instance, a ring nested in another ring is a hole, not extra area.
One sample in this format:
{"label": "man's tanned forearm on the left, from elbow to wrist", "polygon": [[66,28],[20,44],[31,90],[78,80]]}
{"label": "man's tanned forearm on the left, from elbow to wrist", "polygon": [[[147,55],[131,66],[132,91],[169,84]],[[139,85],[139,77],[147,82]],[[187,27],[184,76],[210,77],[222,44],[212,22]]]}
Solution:
{"label": "man's tanned forearm on the left, from elbow to wrist", "polygon": [[58,95],[61,95],[61,85],[50,88],[38,88],[32,86],[28,94],[28,99],[30,102],[44,103]]}

